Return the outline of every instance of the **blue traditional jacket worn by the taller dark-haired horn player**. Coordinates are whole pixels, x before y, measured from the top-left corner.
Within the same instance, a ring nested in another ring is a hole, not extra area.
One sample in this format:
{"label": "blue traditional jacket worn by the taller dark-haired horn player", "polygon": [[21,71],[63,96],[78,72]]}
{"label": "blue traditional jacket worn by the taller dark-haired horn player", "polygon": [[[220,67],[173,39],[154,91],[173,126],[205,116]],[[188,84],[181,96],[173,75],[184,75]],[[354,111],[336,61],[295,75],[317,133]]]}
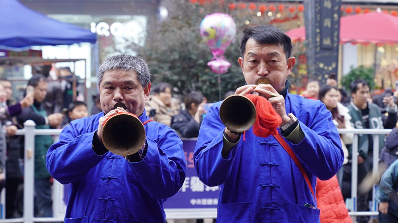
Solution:
{"label": "blue traditional jacket worn by the taller dark-haired horn player", "polygon": [[[273,137],[246,131],[228,157],[221,155],[225,126],[221,102],[206,114],[194,152],[198,177],[208,186],[221,185],[217,223],[319,223],[316,200],[285,149]],[[312,188],[316,177],[327,180],[340,169],[344,153],[331,113],[321,101],[285,97],[286,113],[299,120],[305,138],[288,145],[296,153]]]}

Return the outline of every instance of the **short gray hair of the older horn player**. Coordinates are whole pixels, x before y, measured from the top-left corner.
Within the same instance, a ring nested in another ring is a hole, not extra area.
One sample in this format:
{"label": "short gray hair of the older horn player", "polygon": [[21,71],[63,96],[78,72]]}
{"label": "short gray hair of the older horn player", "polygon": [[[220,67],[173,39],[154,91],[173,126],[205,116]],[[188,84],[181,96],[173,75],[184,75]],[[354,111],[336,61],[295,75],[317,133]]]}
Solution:
{"label": "short gray hair of the older horn player", "polygon": [[151,82],[151,73],[149,72],[148,65],[144,60],[134,56],[122,54],[112,56],[100,65],[97,74],[98,84],[101,84],[105,71],[112,69],[135,71],[137,73],[137,79],[142,84],[142,87],[147,86]]}

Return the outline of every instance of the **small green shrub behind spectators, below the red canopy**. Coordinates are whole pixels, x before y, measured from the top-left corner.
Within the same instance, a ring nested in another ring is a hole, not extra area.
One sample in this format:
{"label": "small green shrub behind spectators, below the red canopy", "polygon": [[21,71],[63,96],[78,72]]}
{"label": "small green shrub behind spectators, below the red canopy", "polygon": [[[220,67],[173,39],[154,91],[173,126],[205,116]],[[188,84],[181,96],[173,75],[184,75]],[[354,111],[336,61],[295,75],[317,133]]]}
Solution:
{"label": "small green shrub behind spectators, below the red canopy", "polygon": [[351,66],[350,72],[341,79],[341,85],[346,90],[349,90],[352,82],[358,79],[363,79],[369,84],[369,88],[372,90],[375,85],[375,82],[373,81],[373,72],[373,67],[366,68],[361,65],[354,68],[354,66]]}

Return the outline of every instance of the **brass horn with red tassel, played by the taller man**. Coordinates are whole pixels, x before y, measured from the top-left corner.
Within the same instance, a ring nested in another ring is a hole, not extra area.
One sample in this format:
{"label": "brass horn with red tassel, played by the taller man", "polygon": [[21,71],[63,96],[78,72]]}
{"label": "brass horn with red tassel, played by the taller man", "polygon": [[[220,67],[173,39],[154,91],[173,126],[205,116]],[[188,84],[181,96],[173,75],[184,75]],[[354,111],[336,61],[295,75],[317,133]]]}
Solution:
{"label": "brass horn with red tassel, played by the taller man", "polygon": [[[270,84],[267,79],[259,79],[258,84]],[[258,93],[254,92],[253,94]],[[233,132],[244,132],[256,121],[256,107],[253,102],[242,95],[227,97],[220,106],[220,119],[227,129]]]}

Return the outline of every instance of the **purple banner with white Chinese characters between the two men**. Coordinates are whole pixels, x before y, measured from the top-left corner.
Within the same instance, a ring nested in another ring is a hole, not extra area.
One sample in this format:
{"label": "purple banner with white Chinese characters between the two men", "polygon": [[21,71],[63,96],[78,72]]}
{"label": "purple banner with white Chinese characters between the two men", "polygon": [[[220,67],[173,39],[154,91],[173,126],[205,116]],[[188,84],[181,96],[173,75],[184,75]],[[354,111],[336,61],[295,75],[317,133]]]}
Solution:
{"label": "purple banner with white Chinese characters between the two men", "polygon": [[196,140],[183,140],[187,173],[181,189],[164,203],[164,208],[217,208],[220,187],[201,182],[194,168]]}

